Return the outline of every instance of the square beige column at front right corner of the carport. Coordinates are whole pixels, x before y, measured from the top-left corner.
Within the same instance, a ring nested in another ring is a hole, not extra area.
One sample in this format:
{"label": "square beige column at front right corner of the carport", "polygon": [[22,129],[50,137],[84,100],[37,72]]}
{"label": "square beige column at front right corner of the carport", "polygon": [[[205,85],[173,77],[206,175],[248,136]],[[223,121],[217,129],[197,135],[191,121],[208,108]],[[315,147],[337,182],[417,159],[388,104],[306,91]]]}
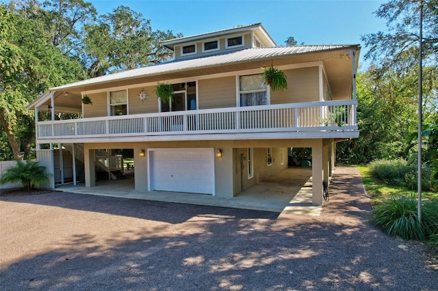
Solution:
{"label": "square beige column at front right corner of the carport", "polygon": [[322,180],[324,177],[322,140],[312,146],[312,204],[322,205]]}

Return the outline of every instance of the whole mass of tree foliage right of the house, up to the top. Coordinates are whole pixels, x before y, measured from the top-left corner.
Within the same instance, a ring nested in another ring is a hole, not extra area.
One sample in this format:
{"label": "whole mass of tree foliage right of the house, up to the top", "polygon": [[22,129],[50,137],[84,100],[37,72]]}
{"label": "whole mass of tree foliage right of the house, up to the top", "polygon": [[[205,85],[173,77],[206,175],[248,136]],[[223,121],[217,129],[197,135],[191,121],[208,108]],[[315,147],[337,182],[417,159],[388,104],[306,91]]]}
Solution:
{"label": "whole mass of tree foliage right of the house, up to the top", "polygon": [[[430,123],[438,114],[438,0],[423,3],[422,113]],[[362,38],[372,66],[357,78],[360,137],[338,144],[340,161],[368,163],[412,154],[405,149],[418,124],[419,8],[420,1],[393,0],[375,12],[387,20],[387,31]]]}

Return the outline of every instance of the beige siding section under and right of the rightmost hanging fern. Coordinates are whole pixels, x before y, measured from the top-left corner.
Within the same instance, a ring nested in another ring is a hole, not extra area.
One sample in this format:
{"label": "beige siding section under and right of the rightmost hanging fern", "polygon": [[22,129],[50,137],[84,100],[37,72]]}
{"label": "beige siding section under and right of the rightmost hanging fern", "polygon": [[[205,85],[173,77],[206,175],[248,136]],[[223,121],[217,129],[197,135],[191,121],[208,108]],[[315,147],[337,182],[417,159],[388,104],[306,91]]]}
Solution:
{"label": "beige siding section under and right of the rightmost hanging fern", "polygon": [[319,101],[318,67],[283,72],[287,77],[287,89],[271,92],[271,104]]}

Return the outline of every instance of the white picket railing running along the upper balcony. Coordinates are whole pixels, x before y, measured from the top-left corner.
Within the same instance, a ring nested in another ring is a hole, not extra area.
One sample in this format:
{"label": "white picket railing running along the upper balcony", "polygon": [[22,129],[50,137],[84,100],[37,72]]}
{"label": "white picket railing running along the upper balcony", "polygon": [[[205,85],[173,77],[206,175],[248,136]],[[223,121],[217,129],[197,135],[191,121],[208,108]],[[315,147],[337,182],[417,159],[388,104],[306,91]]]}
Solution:
{"label": "white picket railing running along the upper balcony", "polygon": [[38,139],[357,130],[357,100],[44,121]]}

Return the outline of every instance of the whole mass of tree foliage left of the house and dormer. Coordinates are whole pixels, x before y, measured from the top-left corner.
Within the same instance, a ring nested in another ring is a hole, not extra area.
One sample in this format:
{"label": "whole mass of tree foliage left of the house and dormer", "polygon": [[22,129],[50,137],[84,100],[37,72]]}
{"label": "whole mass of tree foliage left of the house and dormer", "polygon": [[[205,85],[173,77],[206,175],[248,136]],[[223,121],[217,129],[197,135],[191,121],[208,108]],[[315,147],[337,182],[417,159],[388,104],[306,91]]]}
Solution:
{"label": "whole mass of tree foliage left of the house and dormer", "polygon": [[120,6],[96,16],[84,0],[0,4],[0,144],[10,146],[0,159],[29,157],[35,126],[25,107],[49,87],[171,56],[159,42],[172,31],[153,31],[142,14]]}

